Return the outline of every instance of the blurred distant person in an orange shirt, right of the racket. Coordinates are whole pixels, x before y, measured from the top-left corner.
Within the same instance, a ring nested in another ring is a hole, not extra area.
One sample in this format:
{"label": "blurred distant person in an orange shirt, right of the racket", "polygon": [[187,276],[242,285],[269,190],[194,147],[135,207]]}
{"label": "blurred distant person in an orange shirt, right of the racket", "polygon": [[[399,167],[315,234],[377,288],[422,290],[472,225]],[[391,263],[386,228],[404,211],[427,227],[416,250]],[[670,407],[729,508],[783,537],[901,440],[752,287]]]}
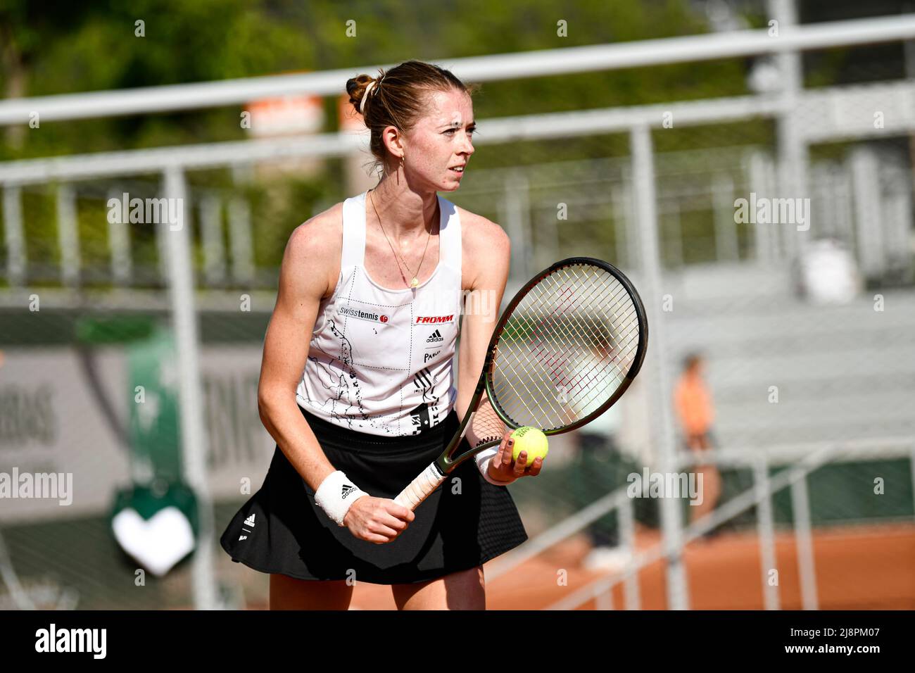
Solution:
{"label": "blurred distant person in an orange shirt, right of the racket", "polygon": [[[703,451],[713,448],[711,440],[715,407],[712,395],[703,379],[704,361],[698,353],[684,359],[684,370],[673,391],[673,405],[684,431],[689,450]],[[690,523],[715,509],[721,495],[721,475],[714,463],[694,466],[702,474],[703,500],[701,505],[690,505]]]}

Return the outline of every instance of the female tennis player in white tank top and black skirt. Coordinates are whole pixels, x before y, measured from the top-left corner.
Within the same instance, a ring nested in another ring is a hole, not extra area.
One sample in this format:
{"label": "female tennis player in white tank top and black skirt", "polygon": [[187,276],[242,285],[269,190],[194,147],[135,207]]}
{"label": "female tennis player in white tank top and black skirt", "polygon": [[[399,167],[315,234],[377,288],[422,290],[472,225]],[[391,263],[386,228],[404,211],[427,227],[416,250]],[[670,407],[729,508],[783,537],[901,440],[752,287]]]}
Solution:
{"label": "female tennis player in white tank top and black skirt", "polygon": [[402,610],[484,609],[483,563],[527,539],[505,485],[543,459],[513,461],[485,406],[464,441],[500,446],[415,511],[393,501],[458,429],[509,274],[501,227],[436,193],[474,152],[473,88],[411,60],[347,92],[381,179],[289,238],[258,388],[276,449],[221,545],[270,573],[271,609],[345,610],[356,581],[390,584]]}

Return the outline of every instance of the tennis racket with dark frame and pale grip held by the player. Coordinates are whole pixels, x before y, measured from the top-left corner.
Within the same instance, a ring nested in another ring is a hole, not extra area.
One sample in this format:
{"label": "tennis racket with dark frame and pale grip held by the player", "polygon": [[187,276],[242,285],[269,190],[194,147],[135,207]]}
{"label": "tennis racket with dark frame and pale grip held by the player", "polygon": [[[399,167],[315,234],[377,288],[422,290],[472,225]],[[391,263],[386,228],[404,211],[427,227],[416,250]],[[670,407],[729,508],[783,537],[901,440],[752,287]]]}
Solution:
{"label": "tennis racket with dark frame and pale grip held by the player", "polygon": [[[629,278],[590,257],[556,262],[502,312],[460,428],[394,501],[415,509],[463,461],[501,444],[502,423],[549,436],[597,418],[639,373],[647,344],[645,309]],[[475,417],[487,399],[495,414],[487,410],[480,428]],[[484,440],[460,452],[471,424]]]}

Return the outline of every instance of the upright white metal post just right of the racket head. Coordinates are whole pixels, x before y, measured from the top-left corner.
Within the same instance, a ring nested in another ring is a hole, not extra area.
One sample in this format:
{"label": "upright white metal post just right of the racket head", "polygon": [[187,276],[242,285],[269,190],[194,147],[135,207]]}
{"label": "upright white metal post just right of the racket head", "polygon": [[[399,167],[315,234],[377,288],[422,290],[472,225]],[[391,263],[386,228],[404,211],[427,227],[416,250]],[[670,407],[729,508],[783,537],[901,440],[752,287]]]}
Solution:
{"label": "upright white metal post just right of the racket head", "polygon": [[[630,147],[635,201],[634,221],[639,224],[636,229],[639,233],[640,276],[643,283],[639,293],[645,302],[650,334],[645,365],[648,369],[648,385],[651,388],[651,407],[655,416],[655,423],[651,429],[652,442],[658,450],[657,459],[661,471],[670,473],[676,471],[678,461],[673,436],[671,387],[668,382],[666,326],[661,310],[663,279],[658,249],[658,213],[655,210],[651,129],[646,125],[633,126],[630,132]],[[668,607],[671,610],[686,610],[689,608],[689,596],[683,563],[683,522],[679,500],[661,499],[661,523],[667,559]]]}

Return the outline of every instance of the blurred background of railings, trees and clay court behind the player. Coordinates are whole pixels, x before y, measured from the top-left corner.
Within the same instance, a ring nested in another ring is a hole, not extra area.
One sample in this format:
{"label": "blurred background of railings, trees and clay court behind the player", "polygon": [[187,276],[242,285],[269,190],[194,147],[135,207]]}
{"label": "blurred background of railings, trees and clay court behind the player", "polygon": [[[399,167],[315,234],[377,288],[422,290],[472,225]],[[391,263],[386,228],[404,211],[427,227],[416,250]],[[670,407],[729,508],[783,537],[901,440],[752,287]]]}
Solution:
{"label": "blurred background of railings, trees and clay court behind the player", "polygon": [[910,2],[0,0],[0,608],[264,608],[218,537],[285,241],[375,185],[345,83],[411,59],[482,84],[442,195],[509,233],[506,300],[597,256],[651,324],[509,487],[488,607],[915,607]]}

